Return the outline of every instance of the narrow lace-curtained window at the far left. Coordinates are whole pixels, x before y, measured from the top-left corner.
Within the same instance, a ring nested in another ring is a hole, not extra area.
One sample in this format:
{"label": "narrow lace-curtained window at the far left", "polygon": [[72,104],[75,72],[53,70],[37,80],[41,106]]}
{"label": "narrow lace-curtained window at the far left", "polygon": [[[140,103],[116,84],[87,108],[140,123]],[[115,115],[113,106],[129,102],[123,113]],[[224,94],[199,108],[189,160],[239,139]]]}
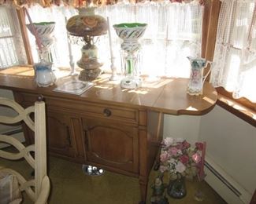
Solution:
{"label": "narrow lace-curtained window at the far left", "polygon": [[27,64],[15,9],[0,5],[0,68]]}

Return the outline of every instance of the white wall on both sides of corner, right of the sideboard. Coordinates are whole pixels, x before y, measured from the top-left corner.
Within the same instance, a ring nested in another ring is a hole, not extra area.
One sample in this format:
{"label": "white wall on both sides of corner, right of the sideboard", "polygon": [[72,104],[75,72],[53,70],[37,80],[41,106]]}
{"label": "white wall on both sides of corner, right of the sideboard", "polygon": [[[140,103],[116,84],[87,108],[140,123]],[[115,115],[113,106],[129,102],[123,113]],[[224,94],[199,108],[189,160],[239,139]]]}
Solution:
{"label": "white wall on both sides of corner, right of the sideboard", "polygon": [[164,137],[206,141],[206,156],[250,195],[256,188],[256,128],[222,107],[202,116],[165,115]]}

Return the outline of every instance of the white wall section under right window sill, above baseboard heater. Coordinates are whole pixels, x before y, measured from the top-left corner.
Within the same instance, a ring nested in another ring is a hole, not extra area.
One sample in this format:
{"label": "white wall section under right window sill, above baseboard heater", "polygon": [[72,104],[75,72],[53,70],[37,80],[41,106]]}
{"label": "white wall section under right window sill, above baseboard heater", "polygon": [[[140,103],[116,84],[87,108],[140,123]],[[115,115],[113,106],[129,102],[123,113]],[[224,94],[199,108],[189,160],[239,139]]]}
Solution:
{"label": "white wall section under right window sill, above baseboard heater", "polygon": [[207,155],[250,195],[256,188],[256,128],[216,106],[201,119]]}

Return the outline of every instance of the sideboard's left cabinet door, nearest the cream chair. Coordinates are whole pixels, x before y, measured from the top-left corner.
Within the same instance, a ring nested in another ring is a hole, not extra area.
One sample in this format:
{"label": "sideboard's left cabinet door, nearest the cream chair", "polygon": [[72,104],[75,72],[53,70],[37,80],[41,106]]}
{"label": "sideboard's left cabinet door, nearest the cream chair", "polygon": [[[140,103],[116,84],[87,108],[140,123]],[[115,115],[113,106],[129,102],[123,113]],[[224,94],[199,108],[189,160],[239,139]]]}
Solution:
{"label": "sideboard's left cabinet door, nearest the cream chair", "polygon": [[[59,111],[47,111],[47,144],[50,153],[69,158],[83,158],[80,118]],[[81,149],[81,151],[79,151]]]}

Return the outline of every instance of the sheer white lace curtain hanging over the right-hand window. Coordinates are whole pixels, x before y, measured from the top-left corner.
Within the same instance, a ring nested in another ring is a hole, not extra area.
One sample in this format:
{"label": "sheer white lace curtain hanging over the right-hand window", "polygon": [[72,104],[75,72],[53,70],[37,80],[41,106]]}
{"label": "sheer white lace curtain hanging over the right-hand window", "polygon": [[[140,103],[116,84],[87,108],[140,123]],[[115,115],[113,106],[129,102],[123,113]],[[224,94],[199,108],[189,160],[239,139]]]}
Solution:
{"label": "sheer white lace curtain hanging over the right-hand window", "polygon": [[210,81],[256,102],[256,2],[223,0]]}

